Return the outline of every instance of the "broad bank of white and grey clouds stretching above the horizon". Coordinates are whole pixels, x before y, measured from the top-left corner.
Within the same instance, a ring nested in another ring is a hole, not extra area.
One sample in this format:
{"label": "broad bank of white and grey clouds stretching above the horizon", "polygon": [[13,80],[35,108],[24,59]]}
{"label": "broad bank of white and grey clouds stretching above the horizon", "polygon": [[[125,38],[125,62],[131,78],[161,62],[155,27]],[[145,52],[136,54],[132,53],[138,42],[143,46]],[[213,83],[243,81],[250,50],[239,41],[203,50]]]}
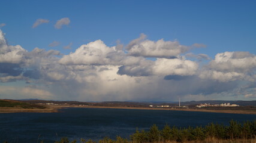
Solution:
{"label": "broad bank of white and grey clouds stretching above the horizon", "polygon": [[[0,30],[0,82],[5,84],[0,95],[80,101],[256,98],[254,54],[221,52],[211,59],[189,52],[193,46],[204,45],[150,41],[141,34],[124,49],[97,40],[66,55],[53,49],[28,52],[8,45]],[[17,82],[23,86],[9,84]]]}

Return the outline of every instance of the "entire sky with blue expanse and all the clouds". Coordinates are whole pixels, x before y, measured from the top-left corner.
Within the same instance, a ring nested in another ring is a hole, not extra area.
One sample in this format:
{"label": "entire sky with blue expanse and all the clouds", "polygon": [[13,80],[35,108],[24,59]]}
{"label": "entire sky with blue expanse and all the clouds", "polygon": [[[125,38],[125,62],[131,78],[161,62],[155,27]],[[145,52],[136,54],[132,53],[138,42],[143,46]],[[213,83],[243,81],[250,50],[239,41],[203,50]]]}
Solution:
{"label": "entire sky with blue expanse and all the clouds", "polygon": [[256,1],[1,6],[1,99],[256,100]]}

